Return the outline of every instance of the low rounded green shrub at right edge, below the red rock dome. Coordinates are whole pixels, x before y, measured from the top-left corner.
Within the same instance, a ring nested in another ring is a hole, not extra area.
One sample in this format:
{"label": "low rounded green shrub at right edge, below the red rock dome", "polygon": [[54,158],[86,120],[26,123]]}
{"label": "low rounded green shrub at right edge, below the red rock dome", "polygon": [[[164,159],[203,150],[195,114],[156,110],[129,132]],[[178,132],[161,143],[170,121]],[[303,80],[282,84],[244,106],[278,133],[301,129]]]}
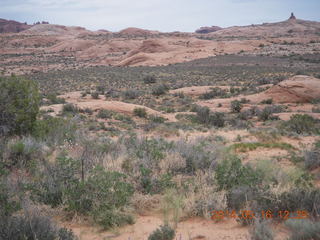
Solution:
{"label": "low rounded green shrub at right edge, below the red rock dome", "polygon": [[297,134],[319,133],[317,121],[307,114],[294,114],[290,117],[290,120],[286,121],[282,126],[284,129]]}

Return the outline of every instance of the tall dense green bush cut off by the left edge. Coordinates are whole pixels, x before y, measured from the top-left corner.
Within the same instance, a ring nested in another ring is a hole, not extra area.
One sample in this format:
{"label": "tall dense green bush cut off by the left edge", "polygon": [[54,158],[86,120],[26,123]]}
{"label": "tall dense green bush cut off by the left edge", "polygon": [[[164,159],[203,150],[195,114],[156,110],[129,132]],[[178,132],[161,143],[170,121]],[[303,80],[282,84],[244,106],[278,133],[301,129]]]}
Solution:
{"label": "tall dense green bush cut off by the left edge", "polygon": [[35,82],[20,77],[0,78],[0,135],[32,131],[40,96]]}

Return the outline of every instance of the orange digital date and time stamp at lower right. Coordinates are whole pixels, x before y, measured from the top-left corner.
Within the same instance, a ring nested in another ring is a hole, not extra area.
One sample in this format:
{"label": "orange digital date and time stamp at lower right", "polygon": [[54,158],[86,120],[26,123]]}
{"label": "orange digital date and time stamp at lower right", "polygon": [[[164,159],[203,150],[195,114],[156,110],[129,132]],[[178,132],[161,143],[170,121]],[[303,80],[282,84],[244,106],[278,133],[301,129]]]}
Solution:
{"label": "orange digital date and time stamp at lower right", "polygon": [[254,219],[254,218],[262,218],[262,219],[279,219],[279,220],[287,220],[287,219],[307,219],[309,218],[308,211],[298,210],[298,211],[272,211],[265,210],[261,212],[253,212],[251,210],[242,210],[236,212],[235,210],[213,210],[211,211],[211,219],[212,220],[223,220],[226,218],[234,218],[234,219]]}

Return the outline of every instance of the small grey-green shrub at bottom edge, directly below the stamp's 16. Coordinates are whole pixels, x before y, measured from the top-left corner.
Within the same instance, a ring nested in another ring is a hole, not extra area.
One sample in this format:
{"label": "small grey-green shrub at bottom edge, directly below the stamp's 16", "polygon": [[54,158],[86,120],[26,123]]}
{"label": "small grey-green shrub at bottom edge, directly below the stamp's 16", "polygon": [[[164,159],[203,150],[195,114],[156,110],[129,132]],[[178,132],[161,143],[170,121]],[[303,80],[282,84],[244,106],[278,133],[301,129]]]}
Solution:
{"label": "small grey-green shrub at bottom edge, directly below the stamp's 16", "polygon": [[273,240],[274,233],[267,221],[255,221],[250,229],[251,240]]}

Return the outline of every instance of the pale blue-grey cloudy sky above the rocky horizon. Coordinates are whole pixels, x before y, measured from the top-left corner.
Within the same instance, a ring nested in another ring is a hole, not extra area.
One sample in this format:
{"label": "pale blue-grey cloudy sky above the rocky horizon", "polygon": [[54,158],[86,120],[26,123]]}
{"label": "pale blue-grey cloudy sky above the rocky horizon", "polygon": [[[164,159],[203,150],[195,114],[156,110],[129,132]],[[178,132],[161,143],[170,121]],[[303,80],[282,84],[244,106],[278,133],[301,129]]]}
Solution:
{"label": "pale blue-grey cloudy sky above the rocky horizon", "polygon": [[0,0],[0,18],[120,31],[194,32],[297,18],[320,21],[320,0]]}

